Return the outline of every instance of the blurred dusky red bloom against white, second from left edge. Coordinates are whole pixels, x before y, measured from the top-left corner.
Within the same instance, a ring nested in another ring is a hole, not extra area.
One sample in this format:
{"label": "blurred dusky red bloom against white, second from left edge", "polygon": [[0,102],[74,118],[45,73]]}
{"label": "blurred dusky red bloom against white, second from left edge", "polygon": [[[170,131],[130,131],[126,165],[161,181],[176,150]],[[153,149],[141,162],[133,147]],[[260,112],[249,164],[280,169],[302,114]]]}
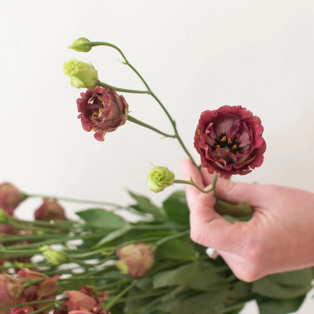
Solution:
{"label": "blurred dusky red bloom against white, second from left edge", "polygon": [[59,203],[44,198],[44,203],[35,211],[35,220],[67,220],[67,218]]}

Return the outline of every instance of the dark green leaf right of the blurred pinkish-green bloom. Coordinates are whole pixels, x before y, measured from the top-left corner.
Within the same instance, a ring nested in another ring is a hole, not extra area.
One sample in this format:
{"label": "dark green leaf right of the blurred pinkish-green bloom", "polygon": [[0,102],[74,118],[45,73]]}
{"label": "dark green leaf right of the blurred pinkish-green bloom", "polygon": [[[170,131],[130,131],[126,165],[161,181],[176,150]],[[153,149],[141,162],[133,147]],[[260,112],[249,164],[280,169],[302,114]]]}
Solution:
{"label": "dark green leaf right of the blurred pinkish-green bloom", "polygon": [[181,238],[165,242],[158,246],[156,259],[159,260],[195,260],[196,252],[190,239]]}

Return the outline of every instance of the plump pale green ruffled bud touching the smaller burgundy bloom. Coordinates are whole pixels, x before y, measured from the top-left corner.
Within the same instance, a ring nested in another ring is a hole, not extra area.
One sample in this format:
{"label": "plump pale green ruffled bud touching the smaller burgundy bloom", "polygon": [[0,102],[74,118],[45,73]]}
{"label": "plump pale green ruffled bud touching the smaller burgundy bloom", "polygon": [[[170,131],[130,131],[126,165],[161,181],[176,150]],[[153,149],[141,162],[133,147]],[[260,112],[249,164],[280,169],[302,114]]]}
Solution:
{"label": "plump pale green ruffled bud touching the smaller burgundy bloom", "polygon": [[63,63],[63,73],[71,79],[71,86],[94,89],[99,83],[96,69],[88,63],[71,59]]}

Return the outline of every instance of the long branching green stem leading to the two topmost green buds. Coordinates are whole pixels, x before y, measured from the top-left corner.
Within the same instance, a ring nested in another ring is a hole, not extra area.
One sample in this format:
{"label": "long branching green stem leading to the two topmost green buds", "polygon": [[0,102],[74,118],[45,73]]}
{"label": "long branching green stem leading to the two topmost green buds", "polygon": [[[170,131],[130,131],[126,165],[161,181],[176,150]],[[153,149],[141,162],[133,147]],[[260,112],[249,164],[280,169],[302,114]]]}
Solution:
{"label": "long branching green stem leading to the two topmost green buds", "polygon": [[137,93],[137,94],[149,94],[152,95],[153,98],[159,103],[160,107],[162,108],[162,110],[165,112],[166,116],[169,118],[173,130],[175,132],[175,138],[177,138],[177,140],[179,141],[180,145],[182,146],[183,150],[186,152],[186,154],[189,156],[189,158],[192,160],[193,164],[196,165],[195,161],[193,160],[192,155],[188,152],[186,146],[184,145],[181,137],[178,134],[177,128],[176,128],[176,122],[172,119],[170,113],[167,111],[167,109],[165,108],[165,106],[162,104],[162,102],[158,99],[158,97],[153,93],[153,91],[149,88],[148,84],[146,83],[146,81],[144,80],[144,78],[141,76],[140,73],[138,73],[138,71],[130,64],[130,62],[128,62],[127,58],[125,57],[125,55],[123,54],[123,52],[121,51],[120,48],[118,48],[117,46],[110,44],[108,42],[103,42],[103,41],[94,41],[91,43],[92,47],[95,46],[109,46],[112,47],[114,49],[116,49],[117,51],[119,51],[119,53],[121,54],[122,58],[124,59],[124,63],[130,67],[135,73],[136,75],[141,79],[141,81],[143,82],[143,84],[145,85],[145,87],[147,88],[147,91],[143,91],[143,90],[131,90],[131,89],[122,89],[122,88],[116,88],[114,86],[105,84],[105,83],[100,83],[99,86],[102,87],[106,87],[109,89],[114,89],[116,91],[120,91],[120,92],[126,92],[126,93]]}

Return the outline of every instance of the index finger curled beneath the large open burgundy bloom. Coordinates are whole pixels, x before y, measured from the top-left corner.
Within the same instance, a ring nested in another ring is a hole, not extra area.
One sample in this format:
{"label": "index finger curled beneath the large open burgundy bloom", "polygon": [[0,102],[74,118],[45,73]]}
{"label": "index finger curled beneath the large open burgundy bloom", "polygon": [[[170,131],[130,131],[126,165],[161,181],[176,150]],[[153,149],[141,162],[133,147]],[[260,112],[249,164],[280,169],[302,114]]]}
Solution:
{"label": "index finger curled beneath the large open burgundy bloom", "polygon": [[[209,174],[206,168],[202,168],[201,173],[206,185],[213,183],[214,175]],[[265,200],[263,186],[248,183],[236,183],[220,177],[216,182],[216,194],[218,198],[226,202],[234,204],[247,202],[253,207],[261,206]]]}

